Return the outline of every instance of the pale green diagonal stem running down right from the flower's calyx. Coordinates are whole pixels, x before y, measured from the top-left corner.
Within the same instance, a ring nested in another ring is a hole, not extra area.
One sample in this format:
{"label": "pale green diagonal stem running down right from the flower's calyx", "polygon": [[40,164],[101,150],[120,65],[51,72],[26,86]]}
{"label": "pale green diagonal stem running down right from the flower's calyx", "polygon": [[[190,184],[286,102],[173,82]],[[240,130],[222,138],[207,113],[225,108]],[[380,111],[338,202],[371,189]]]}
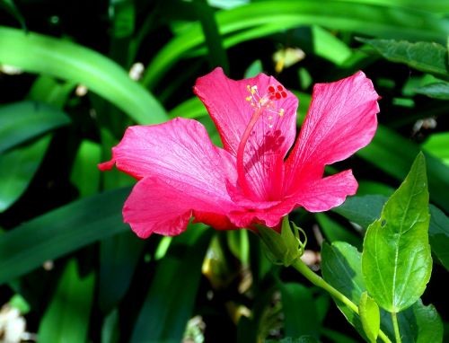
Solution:
{"label": "pale green diagonal stem running down right from the flower's calyx", "polygon": [[[295,262],[293,262],[292,267],[295,268],[297,271],[299,271],[301,274],[303,274],[304,277],[306,277],[310,282],[313,283],[315,286],[319,286],[322,289],[324,289],[326,292],[328,292],[330,295],[332,295],[335,299],[338,299],[341,303],[346,304],[352,311],[356,312],[358,314],[358,306],[357,304],[353,303],[351,300],[348,299],[346,295],[342,295],[339,293],[337,289],[330,286],[324,279],[320,276],[318,276],[316,273],[313,272],[311,268],[309,268],[302,259],[295,259]],[[396,316],[396,313],[394,313]],[[392,341],[383,333],[382,330],[379,330],[379,337],[385,342],[385,343],[392,343]],[[401,340],[397,341],[401,342]]]}

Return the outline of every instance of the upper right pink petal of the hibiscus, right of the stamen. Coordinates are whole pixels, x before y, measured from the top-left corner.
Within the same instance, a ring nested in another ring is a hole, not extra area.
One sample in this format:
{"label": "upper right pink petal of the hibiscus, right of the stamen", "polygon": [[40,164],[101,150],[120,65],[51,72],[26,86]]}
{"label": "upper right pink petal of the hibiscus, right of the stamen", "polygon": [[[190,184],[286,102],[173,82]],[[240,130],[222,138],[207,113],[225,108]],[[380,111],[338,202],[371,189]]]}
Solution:
{"label": "upper right pink petal of the hibiscus, right of the stamen", "polygon": [[326,164],[348,158],[372,140],[378,99],[371,80],[362,72],[313,87],[311,107],[286,161],[288,194],[321,178]]}

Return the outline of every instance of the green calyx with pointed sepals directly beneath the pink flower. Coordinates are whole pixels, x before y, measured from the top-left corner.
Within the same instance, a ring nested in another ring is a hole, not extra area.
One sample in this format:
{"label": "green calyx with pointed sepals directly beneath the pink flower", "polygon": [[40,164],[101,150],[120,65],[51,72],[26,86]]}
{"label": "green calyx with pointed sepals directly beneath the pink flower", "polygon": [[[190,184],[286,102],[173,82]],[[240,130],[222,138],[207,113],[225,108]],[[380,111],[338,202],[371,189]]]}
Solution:
{"label": "green calyx with pointed sepals directly beneath the pink flower", "polygon": [[[260,238],[267,248],[267,257],[276,264],[282,264],[285,267],[292,265],[295,259],[300,258],[304,253],[307,237],[303,229],[288,222],[288,215],[282,221],[281,232],[273,228],[258,225]],[[303,233],[304,242],[301,242],[299,233]]]}

